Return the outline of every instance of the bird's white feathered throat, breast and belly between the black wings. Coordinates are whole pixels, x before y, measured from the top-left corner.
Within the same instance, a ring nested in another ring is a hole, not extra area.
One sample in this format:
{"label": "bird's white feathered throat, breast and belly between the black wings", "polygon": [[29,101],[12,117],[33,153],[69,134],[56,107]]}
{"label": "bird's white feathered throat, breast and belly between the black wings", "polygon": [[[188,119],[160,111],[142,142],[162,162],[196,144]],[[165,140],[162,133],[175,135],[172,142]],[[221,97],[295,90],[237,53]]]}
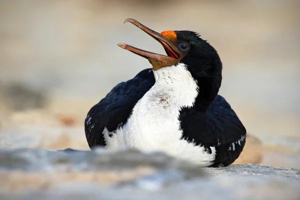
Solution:
{"label": "bird's white feathered throat, breast and belly between the black wings", "polygon": [[103,131],[107,148],[129,146],[142,151],[161,150],[201,166],[214,160],[215,148],[206,153],[202,147],[180,139],[178,120],[181,107],[192,106],[197,96],[197,84],[184,64],[154,71],[155,84],[135,104],[126,124],[112,137]]}

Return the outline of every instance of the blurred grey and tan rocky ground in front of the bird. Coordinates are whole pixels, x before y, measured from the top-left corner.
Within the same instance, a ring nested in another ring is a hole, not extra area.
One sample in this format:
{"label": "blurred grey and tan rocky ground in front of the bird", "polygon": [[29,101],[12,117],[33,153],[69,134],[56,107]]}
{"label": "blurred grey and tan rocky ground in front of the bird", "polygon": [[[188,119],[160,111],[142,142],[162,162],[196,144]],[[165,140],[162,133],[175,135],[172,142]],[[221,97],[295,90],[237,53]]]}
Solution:
{"label": "blurred grey and tan rocky ground in front of the bird", "polygon": [[300,170],[199,168],[132,149],[0,150],[0,199],[298,199]]}

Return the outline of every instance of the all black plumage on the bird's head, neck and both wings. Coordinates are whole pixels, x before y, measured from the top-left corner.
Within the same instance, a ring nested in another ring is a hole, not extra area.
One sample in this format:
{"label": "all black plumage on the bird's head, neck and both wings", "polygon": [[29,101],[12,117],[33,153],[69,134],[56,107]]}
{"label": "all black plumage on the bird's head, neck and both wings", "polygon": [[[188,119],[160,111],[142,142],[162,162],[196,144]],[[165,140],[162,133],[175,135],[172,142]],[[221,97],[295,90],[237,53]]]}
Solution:
{"label": "all black plumage on the bird's head, neck and both wings", "polygon": [[[189,47],[180,63],[186,65],[198,85],[193,106],[180,110],[181,139],[203,146],[207,153],[212,153],[210,147],[214,147],[216,154],[211,166],[231,164],[243,149],[246,129],[229,103],[217,94],[222,80],[221,60],[216,50],[197,33],[186,30],[175,33],[176,42],[186,42]],[[105,146],[104,127],[113,132],[125,124],[136,102],[154,83],[152,69],[144,69],[132,79],[117,84],[94,105],[85,119],[89,147]]]}

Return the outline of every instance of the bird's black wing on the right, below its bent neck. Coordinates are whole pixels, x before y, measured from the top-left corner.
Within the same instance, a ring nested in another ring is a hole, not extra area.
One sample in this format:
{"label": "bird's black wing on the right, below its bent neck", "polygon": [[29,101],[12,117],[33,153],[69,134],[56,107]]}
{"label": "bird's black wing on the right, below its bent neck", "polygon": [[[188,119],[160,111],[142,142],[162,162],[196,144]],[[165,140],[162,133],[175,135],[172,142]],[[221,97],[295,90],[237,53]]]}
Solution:
{"label": "bird's black wing on the right, below its bent neck", "polygon": [[214,146],[216,155],[213,166],[229,165],[241,153],[245,144],[246,129],[229,103],[217,95],[205,113],[193,113],[185,108],[179,116],[182,139],[204,146]]}

